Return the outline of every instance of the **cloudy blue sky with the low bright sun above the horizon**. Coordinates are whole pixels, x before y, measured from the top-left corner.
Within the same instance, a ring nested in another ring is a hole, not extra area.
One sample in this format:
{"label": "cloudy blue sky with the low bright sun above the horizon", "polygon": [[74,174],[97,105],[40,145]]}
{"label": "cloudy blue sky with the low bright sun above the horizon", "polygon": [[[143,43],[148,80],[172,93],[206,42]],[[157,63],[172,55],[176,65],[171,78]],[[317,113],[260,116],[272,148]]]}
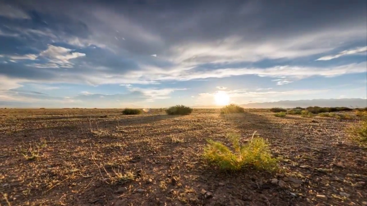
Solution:
{"label": "cloudy blue sky with the low bright sun above the horizon", "polygon": [[367,1],[0,0],[0,107],[367,99]]}

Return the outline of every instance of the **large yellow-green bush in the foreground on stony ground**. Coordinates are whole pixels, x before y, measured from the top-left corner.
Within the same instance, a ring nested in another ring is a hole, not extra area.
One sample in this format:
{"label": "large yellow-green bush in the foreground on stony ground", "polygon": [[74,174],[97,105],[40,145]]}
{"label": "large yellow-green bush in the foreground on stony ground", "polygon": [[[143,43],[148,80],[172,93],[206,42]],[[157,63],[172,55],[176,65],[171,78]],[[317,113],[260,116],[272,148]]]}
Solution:
{"label": "large yellow-green bush in the foreground on stony ground", "polygon": [[210,164],[224,170],[240,170],[244,167],[275,170],[277,159],[271,157],[268,142],[254,135],[247,144],[241,144],[239,135],[229,134],[227,137],[232,141],[234,151],[219,141],[208,140],[203,156]]}

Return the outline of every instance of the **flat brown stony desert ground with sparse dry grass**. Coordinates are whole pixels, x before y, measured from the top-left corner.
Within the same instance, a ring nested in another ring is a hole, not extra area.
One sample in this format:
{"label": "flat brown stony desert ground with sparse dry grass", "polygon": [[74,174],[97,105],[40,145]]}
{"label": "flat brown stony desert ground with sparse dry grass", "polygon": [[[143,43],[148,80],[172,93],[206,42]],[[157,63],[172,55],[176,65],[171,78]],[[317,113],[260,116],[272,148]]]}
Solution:
{"label": "flat brown stony desert ground with sparse dry grass", "polygon": [[[163,110],[121,115],[117,109],[1,109],[0,203],[364,205],[366,148],[342,144],[353,124],[259,111],[219,115],[215,109],[186,116]],[[279,172],[224,173],[202,158],[206,139],[228,144],[229,132],[246,140],[255,131],[281,158]]]}

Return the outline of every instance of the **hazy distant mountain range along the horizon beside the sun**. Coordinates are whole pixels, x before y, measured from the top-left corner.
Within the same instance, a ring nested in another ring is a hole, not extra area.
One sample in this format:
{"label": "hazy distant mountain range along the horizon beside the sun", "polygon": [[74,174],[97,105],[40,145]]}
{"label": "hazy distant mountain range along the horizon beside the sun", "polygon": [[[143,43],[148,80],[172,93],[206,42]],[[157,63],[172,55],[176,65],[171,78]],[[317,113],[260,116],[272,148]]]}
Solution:
{"label": "hazy distant mountain range along the horizon beside the sun", "polygon": [[[241,104],[244,108],[294,108],[294,107],[367,107],[367,99],[306,99],[306,100],[284,100],[279,102],[254,102]],[[193,106],[193,108],[219,108],[218,106]]]}

